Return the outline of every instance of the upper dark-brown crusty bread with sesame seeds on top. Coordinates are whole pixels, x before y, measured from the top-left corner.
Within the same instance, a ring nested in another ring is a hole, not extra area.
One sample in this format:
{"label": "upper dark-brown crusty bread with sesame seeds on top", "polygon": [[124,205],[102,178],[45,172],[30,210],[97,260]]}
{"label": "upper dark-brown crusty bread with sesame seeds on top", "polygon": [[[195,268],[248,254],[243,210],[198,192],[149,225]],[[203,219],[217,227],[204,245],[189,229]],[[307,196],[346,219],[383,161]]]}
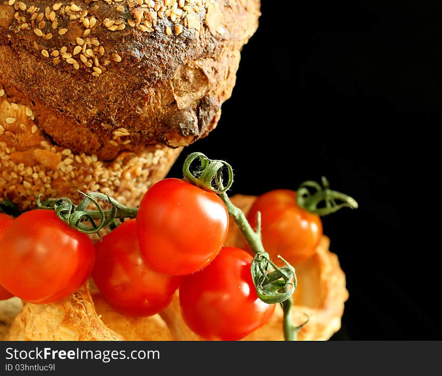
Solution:
{"label": "upper dark-brown crusty bread with sesame seeds on top", "polygon": [[110,160],[146,144],[187,145],[215,127],[259,6],[0,0],[0,82],[74,153]]}

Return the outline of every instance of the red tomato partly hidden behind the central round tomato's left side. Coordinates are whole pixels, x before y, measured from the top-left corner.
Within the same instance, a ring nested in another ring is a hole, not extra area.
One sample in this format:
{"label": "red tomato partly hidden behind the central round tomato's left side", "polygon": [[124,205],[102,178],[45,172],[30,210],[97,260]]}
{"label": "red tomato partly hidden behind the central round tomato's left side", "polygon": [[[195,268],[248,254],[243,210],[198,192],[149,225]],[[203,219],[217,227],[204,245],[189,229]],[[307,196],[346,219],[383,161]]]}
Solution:
{"label": "red tomato partly hidden behind the central round tomato's left side", "polygon": [[117,311],[150,316],[169,305],[181,277],[158,273],[144,262],[135,219],[105,235],[95,249],[93,279],[101,295]]}

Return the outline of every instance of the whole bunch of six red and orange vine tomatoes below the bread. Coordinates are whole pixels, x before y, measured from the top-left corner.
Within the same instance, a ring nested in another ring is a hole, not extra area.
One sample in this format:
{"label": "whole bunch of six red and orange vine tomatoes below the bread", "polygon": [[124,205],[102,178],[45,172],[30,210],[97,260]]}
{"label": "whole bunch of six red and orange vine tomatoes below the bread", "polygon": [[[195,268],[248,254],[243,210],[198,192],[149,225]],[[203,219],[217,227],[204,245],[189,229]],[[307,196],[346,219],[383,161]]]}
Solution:
{"label": "whole bunch of six red and orange vine tomatoes below the bread", "polygon": [[[263,195],[263,243],[273,257],[299,262],[322,234],[320,220],[296,207],[295,193]],[[143,197],[137,218],[93,245],[90,238],[38,209],[17,219],[0,214],[0,299],[35,304],[74,293],[92,275],[116,310],[149,316],[180,289],[187,325],[206,339],[237,340],[264,325],[275,306],[262,302],[244,250],[224,247],[229,214],[213,192],[180,179],[164,179]]]}

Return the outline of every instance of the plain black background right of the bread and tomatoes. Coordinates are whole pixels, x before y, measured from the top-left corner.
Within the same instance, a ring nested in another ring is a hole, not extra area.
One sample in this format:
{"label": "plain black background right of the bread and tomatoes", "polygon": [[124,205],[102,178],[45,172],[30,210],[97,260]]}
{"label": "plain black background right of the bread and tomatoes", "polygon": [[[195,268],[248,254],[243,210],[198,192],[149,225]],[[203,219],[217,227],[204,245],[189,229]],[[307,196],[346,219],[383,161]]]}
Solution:
{"label": "plain black background right of the bread and tomatoes", "polygon": [[231,194],[325,175],[357,199],[358,210],[323,218],[350,292],[333,339],[441,338],[440,230],[429,216],[441,201],[441,11],[264,0],[218,127],[170,172],[201,151],[233,165]]}

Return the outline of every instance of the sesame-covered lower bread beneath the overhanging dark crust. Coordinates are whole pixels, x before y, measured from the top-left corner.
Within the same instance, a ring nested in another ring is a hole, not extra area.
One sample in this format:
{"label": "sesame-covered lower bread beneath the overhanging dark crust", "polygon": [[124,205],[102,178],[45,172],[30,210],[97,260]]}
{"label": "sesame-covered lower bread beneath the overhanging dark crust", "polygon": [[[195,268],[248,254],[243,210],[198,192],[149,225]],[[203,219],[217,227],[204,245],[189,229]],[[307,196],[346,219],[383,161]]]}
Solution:
{"label": "sesame-covered lower bread beneath the overhanging dark crust", "polygon": [[[114,139],[127,134],[119,128]],[[35,207],[39,194],[79,201],[77,190],[99,191],[123,204],[138,205],[180,151],[148,146],[141,153],[124,151],[112,161],[101,161],[94,154],[53,145],[35,123],[32,109],[14,103],[0,84],[0,200],[8,198],[21,209]]]}

